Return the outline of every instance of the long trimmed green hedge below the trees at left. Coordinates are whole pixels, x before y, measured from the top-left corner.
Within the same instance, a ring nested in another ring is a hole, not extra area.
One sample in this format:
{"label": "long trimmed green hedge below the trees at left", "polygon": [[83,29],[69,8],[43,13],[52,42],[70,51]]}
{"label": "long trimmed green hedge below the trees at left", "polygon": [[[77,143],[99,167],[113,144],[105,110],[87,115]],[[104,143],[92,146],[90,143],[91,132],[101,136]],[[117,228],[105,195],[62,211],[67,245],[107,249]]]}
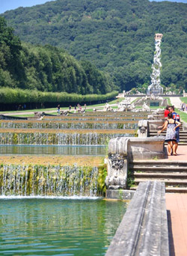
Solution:
{"label": "long trimmed green hedge below the trees at left", "polygon": [[118,91],[108,94],[67,94],[66,92],[52,93],[29,91],[19,88],[0,88],[0,103],[85,103],[99,100],[109,100],[117,96]]}

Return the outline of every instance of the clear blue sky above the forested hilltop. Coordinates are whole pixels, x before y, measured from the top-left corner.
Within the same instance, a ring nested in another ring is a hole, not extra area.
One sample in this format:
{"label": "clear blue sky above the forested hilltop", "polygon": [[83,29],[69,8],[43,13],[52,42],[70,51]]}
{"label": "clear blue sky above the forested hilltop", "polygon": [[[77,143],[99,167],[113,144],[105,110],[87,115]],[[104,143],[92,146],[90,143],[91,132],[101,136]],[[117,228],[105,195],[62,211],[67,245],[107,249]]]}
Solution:
{"label": "clear blue sky above the forested hilltop", "polygon": [[[6,10],[13,10],[18,7],[30,7],[36,4],[44,4],[46,1],[54,0],[0,0],[0,13],[4,13]],[[151,1],[151,0],[150,0]],[[162,1],[162,0],[156,0]],[[187,3],[187,0],[168,0]]]}

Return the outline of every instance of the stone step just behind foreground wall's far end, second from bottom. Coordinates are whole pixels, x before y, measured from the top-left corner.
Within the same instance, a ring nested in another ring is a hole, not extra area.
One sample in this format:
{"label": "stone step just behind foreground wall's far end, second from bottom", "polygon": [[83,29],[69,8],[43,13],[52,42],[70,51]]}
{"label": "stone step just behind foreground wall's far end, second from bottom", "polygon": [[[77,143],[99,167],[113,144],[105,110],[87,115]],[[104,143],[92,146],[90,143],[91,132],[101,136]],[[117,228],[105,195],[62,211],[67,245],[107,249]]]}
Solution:
{"label": "stone step just behind foreground wall's far end, second from bottom", "polygon": [[138,185],[140,182],[144,182],[147,180],[158,180],[164,182],[166,186],[186,186],[187,187],[187,179],[166,179],[166,178],[135,178],[135,185]]}

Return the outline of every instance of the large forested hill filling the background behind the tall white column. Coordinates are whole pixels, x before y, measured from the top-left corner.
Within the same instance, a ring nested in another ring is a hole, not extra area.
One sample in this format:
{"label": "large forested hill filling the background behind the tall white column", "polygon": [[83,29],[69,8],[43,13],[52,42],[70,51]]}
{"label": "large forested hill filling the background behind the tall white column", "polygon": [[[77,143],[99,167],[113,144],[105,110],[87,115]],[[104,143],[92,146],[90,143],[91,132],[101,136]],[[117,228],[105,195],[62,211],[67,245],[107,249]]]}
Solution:
{"label": "large forested hill filling the background behind the tall white column", "polygon": [[164,34],[162,84],[187,89],[186,13],[169,1],[57,0],[3,16],[21,40],[64,48],[129,90],[150,84],[155,33]]}

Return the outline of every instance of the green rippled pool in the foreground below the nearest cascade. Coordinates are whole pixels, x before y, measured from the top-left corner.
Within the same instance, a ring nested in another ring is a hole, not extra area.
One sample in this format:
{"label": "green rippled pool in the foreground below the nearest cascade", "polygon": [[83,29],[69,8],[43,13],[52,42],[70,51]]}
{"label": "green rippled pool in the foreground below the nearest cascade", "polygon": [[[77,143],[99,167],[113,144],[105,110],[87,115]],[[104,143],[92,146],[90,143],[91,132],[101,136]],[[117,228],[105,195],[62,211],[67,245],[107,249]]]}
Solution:
{"label": "green rippled pool in the foreground below the nearest cascade", "polygon": [[126,203],[0,198],[0,255],[105,255]]}

